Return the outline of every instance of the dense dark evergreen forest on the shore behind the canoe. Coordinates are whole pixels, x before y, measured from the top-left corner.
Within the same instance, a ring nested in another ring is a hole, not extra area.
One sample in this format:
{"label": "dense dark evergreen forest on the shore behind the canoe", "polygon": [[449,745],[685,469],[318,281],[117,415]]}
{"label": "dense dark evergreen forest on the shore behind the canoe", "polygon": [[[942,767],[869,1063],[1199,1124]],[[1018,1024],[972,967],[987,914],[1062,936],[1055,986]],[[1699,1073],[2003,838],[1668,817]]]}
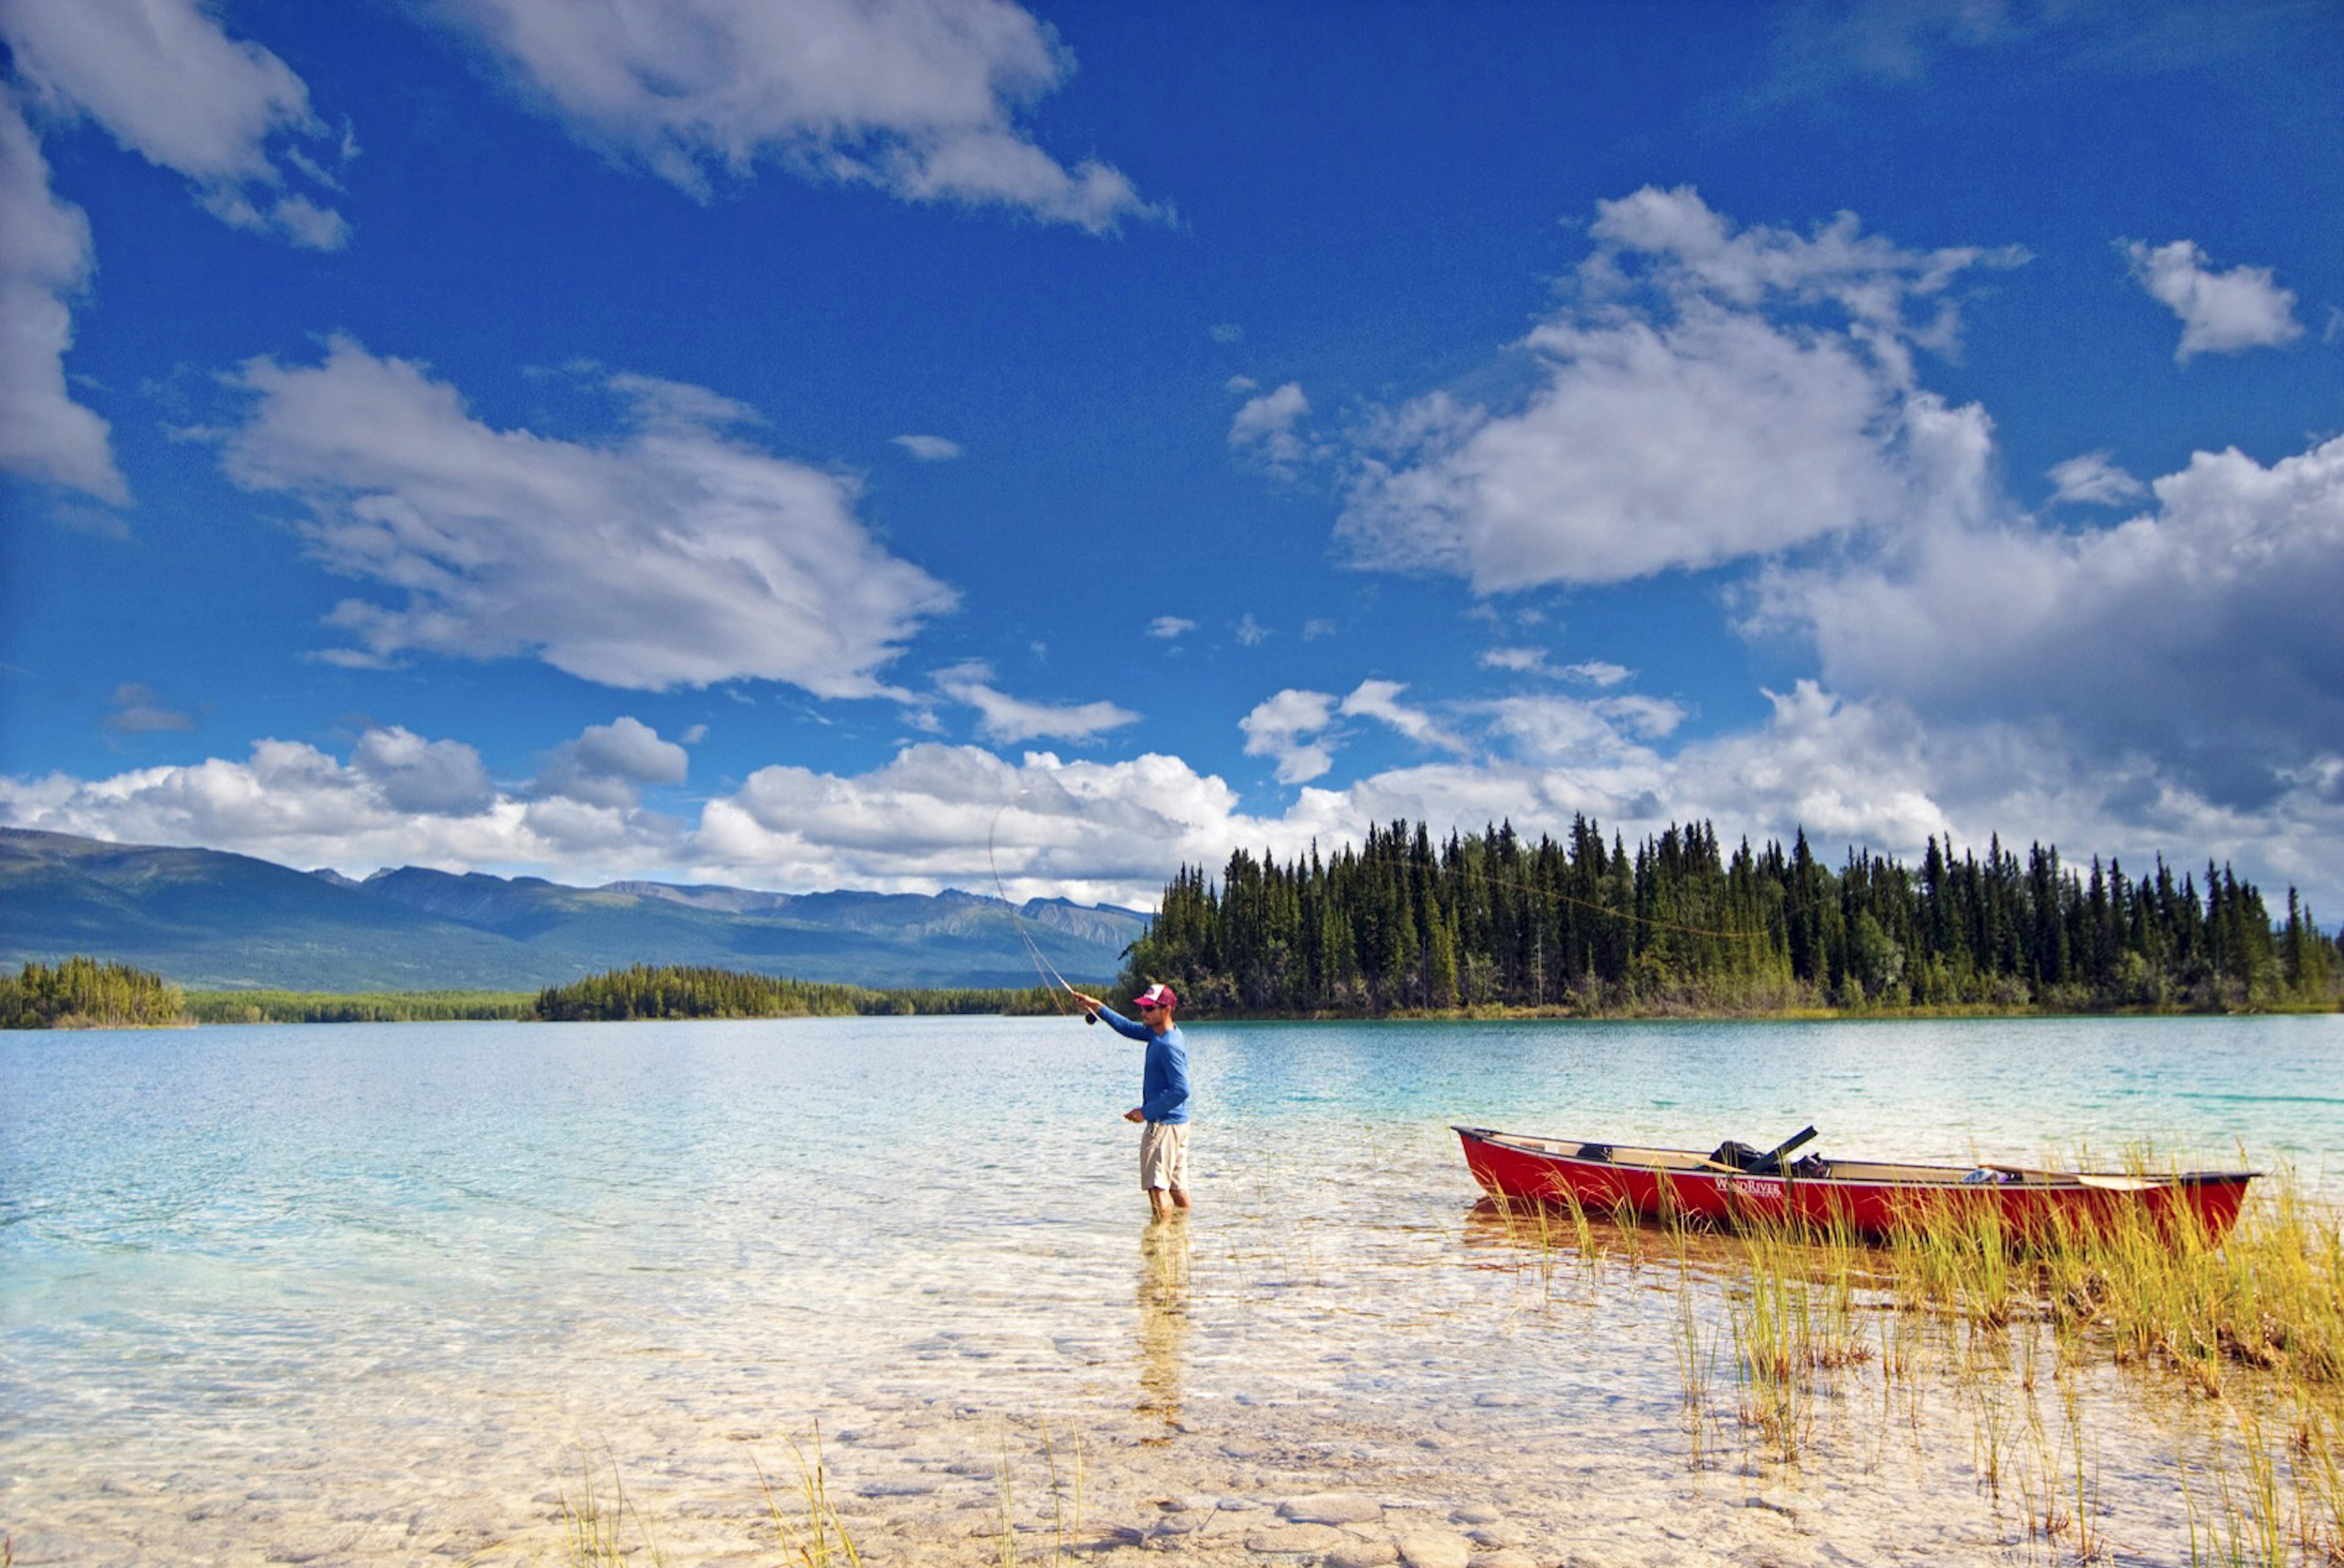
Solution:
{"label": "dense dark evergreen forest on the shore behind the canoe", "polygon": [[1217,881],[1181,867],[1127,952],[1125,987],[1170,980],[1188,1013],[1552,1010],[2239,1013],[2335,1008],[2344,938],[2290,888],[2274,921],[2229,867],[2133,879],[2056,846],[1995,839],[1920,867],[1805,832],[1725,855],[1709,823],[1634,851],[1578,818],[1568,839],[1512,825],[1435,841],[1392,823],[1360,848],[1275,863],[1235,851]]}

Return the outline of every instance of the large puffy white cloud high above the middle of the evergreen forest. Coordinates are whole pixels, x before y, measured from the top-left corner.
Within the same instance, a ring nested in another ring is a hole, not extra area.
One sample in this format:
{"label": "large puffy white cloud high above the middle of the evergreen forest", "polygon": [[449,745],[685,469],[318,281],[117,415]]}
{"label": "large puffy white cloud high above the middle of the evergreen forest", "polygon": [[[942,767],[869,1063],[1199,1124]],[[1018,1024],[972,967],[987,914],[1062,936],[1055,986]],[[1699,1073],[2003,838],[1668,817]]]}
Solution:
{"label": "large puffy white cloud high above the middle of the evergreen forest", "polygon": [[1847,213],[1735,230],[1690,188],[1599,202],[1592,234],[1519,405],[1435,391],[1369,424],[1338,523],[1360,565],[1608,584],[1983,504],[1990,424],[1913,361],[1953,347],[1964,272],[2023,253],[1908,251]]}

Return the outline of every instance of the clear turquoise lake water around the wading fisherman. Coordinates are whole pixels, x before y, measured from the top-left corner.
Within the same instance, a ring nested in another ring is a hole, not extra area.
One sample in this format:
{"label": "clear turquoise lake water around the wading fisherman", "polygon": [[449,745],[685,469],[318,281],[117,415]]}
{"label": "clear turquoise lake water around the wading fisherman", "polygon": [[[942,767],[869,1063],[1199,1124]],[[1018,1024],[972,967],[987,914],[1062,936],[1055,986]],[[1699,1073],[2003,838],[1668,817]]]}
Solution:
{"label": "clear turquoise lake water around the wading fisherman", "polygon": [[[1950,1397],[1692,1463],[1718,1308],[1559,1277],[1449,1123],[2152,1141],[2344,1198],[2344,1017],[1188,1038],[1198,1209],[1149,1226],[1139,1048],[1074,1020],[5,1036],[0,1530],[28,1566],[565,1561],[565,1507],[624,1488],[626,1545],[774,1563],[757,1467],[797,1488],[820,1432],[865,1561],[2030,1561]],[[2201,1418],[2077,1399],[2114,1561],[2171,1561]]]}

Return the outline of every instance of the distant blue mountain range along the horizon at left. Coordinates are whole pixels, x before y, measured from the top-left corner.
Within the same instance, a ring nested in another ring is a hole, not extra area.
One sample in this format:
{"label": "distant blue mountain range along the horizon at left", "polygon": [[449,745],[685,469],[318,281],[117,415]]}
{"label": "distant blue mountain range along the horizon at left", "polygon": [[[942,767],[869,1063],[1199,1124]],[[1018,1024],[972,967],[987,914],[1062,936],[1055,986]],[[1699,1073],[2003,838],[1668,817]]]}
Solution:
{"label": "distant blue mountain range along the horizon at left", "polygon": [[1036,984],[1027,940],[1106,984],[1149,916],[975,893],[759,893],[422,867],[298,872],[209,848],[0,827],[0,966],[117,959],[190,989],[530,991],[628,963],[870,987]]}

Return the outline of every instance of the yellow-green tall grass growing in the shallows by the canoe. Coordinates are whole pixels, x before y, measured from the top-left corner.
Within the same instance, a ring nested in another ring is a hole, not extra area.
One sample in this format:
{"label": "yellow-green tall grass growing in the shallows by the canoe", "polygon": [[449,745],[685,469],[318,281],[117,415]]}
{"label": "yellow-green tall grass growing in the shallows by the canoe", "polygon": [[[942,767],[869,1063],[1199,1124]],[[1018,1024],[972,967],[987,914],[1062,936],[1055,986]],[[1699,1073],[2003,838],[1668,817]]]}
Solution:
{"label": "yellow-green tall grass growing in the shallows by the canoe", "polygon": [[[1676,1280],[1695,1467],[1716,1373],[1702,1324],[1723,1317],[1737,1413],[1767,1460],[1796,1465],[1833,1376],[1878,1362],[1882,1427],[1903,1413],[1917,1432],[1922,1383],[1953,1388],[2013,1542],[2089,1563],[2112,1547],[2079,1378],[2103,1366],[2182,1390],[2217,1427],[2178,1477],[2194,1563],[2344,1568],[2344,1230],[2292,1172],[2227,1238],[2147,1209],[2021,1235],[1978,1205],[1915,1214],[1878,1245],[1753,1216],[1711,1256],[1697,1273],[1681,1254]],[[1866,1310],[1878,1334],[1856,1327]]]}

